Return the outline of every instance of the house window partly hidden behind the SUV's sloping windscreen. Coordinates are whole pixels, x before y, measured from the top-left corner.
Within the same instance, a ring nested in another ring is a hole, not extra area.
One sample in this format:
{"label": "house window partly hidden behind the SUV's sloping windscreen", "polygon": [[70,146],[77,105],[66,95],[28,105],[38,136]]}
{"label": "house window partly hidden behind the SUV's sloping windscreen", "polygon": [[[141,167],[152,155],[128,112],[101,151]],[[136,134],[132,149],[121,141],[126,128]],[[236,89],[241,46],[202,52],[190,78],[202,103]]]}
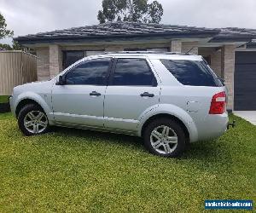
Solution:
{"label": "house window partly hidden behind the SUV's sloping windscreen", "polygon": [[63,52],[63,68],[66,69],[71,66],[74,62],[83,59],[84,57],[90,55],[98,55],[103,53],[104,50],[90,51],[90,50],[74,50],[74,51],[64,51]]}

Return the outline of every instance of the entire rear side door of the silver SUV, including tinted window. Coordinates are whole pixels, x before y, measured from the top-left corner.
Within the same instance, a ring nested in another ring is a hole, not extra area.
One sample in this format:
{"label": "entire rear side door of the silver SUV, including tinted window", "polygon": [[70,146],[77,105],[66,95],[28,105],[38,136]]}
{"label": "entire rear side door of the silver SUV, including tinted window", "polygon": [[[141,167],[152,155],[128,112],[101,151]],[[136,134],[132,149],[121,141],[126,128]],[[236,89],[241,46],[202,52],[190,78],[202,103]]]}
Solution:
{"label": "entire rear side door of the silver SUV, including tinted window", "polygon": [[137,130],[140,116],[159,99],[160,86],[146,58],[117,58],[105,94],[105,127]]}

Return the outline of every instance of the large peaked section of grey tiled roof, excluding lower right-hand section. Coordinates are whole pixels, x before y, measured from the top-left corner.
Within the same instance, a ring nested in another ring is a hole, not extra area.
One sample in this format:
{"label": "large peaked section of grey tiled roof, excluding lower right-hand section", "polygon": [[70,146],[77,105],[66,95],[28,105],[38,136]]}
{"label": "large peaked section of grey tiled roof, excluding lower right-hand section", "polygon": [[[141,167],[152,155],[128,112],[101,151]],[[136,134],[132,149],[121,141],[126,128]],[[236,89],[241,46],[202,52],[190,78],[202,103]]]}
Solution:
{"label": "large peaked section of grey tiled roof, excluding lower right-hand section", "polygon": [[136,36],[148,34],[216,34],[219,32],[217,29],[210,29],[205,27],[191,27],[191,26],[172,26],[162,24],[144,24],[136,22],[110,22],[106,24],[94,25],[94,26],[81,26],[73,27],[70,29],[56,30],[53,32],[38,32],[37,34],[29,34],[26,36],[16,37],[16,40],[29,40],[29,39],[44,39],[49,37],[93,37],[93,36]]}

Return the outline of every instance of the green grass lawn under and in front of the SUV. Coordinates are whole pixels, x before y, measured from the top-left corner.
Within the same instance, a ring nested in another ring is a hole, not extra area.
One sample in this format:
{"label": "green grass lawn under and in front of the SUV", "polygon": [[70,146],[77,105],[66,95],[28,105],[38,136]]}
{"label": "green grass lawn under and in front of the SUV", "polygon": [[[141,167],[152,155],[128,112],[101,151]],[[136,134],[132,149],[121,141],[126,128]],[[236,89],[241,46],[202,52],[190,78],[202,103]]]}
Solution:
{"label": "green grass lawn under and in front of the SUV", "polygon": [[[25,137],[0,114],[0,211],[201,212],[205,199],[256,200],[256,126],[159,158],[142,140],[56,128]],[[223,211],[221,211],[223,212]]]}

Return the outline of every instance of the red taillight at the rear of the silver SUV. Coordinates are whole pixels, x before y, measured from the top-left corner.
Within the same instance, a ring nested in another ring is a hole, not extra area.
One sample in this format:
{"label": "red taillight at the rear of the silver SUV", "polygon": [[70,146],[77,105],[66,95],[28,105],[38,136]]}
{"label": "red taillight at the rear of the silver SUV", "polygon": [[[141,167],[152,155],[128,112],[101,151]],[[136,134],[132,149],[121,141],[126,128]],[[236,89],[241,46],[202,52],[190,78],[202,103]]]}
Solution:
{"label": "red taillight at the rear of the silver SUV", "polygon": [[220,92],[212,97],[209,114],[223,114],[226,110],[226,94]]}

